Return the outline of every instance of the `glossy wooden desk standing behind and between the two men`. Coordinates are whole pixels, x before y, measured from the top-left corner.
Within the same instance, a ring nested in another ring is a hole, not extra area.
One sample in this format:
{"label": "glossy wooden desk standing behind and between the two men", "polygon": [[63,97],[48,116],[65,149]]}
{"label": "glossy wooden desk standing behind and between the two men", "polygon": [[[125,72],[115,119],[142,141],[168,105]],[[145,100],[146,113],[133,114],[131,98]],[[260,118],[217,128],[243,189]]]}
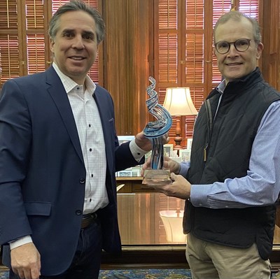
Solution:
{"label": "glossy wooden desk standing behind and between the two men", "polygon": [[[104,253],[102,266],[107,269],[127,268],[187,268],[186,245],[167,243],[165,230],[156,214],[167,206],[167,197],[142,185],[142,177],[118,177],[125,184],[118,192],[118,219],[123,241],[121,257]],[[127,193],[127,197],[125,196]],[[133,195],[130,195],[133,194]],[[138,196],[138,197],[137,197]],[[173,203],[173,204],[172,204]],[[175,206],[174,201],[169,206]],[[279,214],[279,212],[278,212]],[[279,224],[279,222],[276,222]],[[137,227],[138,226],[138,227]],[[153,232],[154,230],[154,232]],[[280,229],[274,232],[272,271],[280,268]]]}

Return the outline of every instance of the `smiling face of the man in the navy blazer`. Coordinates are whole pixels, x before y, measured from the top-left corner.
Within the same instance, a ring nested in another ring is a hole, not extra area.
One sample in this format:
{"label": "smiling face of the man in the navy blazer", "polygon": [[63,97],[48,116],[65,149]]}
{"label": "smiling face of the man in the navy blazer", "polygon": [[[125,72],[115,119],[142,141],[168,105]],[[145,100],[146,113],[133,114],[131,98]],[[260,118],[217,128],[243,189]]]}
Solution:
{"label": "smiling face of the man in the navy blazer", "polygon": [[94,19],[84,11],[69,11],[59,18],[59,28],[50,50],[60,71],[78,85],[97,57],[97,32]]}

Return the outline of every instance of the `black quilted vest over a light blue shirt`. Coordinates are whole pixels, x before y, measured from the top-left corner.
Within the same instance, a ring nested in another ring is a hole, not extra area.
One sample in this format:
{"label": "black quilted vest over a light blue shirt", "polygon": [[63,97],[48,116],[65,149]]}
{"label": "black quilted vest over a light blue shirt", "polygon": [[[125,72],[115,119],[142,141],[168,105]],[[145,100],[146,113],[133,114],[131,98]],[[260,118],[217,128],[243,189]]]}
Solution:
{"label": "black quilted vest over a light blue shirt", "polygon": [[[191,184],[246,176],[260,120],[269,105],[280,99],[258,68],[228,83],[213,120],[220,96],[217,90],[211,92],[195,122],[187,176]],[[186,201],[183,229],[202,240],[236,248],[256,243],[260,257],[267,259],[272,250],[275,211],[274,205],[211,209],[194,207]]]}

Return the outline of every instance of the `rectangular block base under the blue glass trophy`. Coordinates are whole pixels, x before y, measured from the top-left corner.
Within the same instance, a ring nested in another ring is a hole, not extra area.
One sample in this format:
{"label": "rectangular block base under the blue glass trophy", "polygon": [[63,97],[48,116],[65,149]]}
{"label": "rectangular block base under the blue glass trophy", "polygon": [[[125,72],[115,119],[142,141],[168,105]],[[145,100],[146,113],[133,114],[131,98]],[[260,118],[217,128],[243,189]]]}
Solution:
{"label": "rectangular block base under the blue glass trophy", "polygon": [[172,183],[169,169],[146,169],[142,184],[165,185]]}

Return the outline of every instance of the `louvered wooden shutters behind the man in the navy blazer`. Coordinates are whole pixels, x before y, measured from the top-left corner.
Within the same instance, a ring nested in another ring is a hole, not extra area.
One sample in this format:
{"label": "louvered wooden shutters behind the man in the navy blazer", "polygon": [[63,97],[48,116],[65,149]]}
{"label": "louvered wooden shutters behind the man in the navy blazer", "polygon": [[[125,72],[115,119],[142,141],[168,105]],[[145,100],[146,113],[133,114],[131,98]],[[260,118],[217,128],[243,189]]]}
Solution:
{"label": "louvered wooden shutters behind the man in the navy blazer", "polygon": [[[97,1],[85,2],[97,8]],[[48,22],[57,8],[68,2],[69,0],[0,1],[0,88],[10,78],[45,71],[50,65]],[[100,52],[102,50],[99,47]],[[97,83],[98,70],[97,59],[90,70],[90,77]]]}

